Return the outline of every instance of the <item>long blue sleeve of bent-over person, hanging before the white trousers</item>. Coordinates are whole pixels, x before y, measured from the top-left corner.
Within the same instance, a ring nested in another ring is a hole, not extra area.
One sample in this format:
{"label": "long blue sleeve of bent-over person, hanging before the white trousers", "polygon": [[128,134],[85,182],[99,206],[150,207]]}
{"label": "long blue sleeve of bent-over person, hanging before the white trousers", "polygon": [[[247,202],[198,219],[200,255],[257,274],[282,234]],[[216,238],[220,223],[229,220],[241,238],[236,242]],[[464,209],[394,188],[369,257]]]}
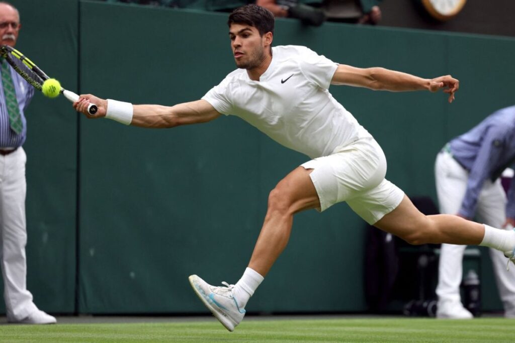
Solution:
{"label": "long blue sleeve of bent-over person, hanging before the white trousers", "polygon": [[483,188],[483,183],[495,170],[497,161],[503,152],[502,135],[495,130],[487,130],[476,159],[469,173],[467,191],[458,213],[466,218],[474,218],[477,207],[477,197]]}

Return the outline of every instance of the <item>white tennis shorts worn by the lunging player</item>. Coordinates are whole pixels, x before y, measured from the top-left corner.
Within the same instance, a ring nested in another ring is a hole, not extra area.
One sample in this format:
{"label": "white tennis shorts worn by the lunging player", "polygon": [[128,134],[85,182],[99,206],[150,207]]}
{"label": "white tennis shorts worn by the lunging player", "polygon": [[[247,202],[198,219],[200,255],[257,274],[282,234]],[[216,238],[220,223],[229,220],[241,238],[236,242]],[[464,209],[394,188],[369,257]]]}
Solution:
{"label": "white tennis shorts worn by the lunging player", "polygon": [[386,157],[373,138],[359,139],[301,166],[313,169],[310,177],[320,200],[319,211],[345,201],[372,225],[404,197],[399,187],[385,179]]}

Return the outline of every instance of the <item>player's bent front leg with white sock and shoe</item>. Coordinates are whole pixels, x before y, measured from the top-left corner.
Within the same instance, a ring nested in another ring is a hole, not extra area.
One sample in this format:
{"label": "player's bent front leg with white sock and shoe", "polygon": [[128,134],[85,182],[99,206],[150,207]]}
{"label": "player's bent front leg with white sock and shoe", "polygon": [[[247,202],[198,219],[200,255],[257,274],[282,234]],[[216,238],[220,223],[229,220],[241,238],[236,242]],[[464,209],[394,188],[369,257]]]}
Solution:
{"label": "player's bent front leg with white sock and shoe", "polygon": [[249,266],[235,285],[212,286],[196,275],[190,283],[213,315],[233,331],[245,316],[245,305],[288,243],[293,215],[320,206],[310,178],[312,169],[298,167],[268,197],[268,210]]}

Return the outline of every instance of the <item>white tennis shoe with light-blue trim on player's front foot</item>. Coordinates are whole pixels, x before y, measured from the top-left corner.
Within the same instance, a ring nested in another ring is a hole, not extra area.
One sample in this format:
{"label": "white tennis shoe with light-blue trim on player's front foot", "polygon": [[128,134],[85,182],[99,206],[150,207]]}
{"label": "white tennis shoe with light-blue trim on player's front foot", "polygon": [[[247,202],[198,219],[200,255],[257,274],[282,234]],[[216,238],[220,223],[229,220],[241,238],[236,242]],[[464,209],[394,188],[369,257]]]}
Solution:
{"label": "white tennis shoe with light-blue trim on player's front foot", "polygon": [[245,310],[240,309],[232,294],[234,285],[222,282],[224,286],[212,286],[196,275],[189,278],[195,293],[211,313],[227,330],[233,331],[245,316]]}

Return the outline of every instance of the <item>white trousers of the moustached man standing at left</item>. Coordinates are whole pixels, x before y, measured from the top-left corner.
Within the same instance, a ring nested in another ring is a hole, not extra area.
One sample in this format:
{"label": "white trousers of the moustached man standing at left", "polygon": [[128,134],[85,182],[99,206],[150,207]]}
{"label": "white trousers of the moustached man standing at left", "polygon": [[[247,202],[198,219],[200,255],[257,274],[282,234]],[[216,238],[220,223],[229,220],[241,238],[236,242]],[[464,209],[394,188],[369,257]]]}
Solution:
{"label": "white trousers of the moustached man standing at left", "polygon": [[0,264],[9,320],[21,320],[37,310],[26,285],[26,161],[23,148],[0,155]]}

